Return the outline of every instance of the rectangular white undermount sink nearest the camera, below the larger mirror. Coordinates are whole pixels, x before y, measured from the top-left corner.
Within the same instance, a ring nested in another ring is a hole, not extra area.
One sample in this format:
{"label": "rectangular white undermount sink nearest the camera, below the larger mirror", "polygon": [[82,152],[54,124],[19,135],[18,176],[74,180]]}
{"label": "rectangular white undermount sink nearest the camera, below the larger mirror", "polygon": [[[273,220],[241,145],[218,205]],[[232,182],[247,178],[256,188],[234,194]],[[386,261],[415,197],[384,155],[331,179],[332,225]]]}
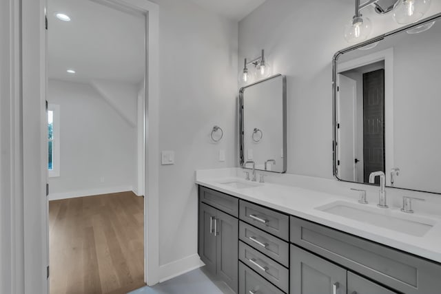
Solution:
{"label": "rectangular white undermount sink nearest the camera, below the larger mirror", "polygon": [[331,202],[321,207],[316,207],[316,209],[334,214],[335,216],[342,216],[351,220],[357,220],[358,222],[366,222],[377,227],[417,237],[425,235],[436,224],[435,220],[421,218],[400,211],[345,201]]}

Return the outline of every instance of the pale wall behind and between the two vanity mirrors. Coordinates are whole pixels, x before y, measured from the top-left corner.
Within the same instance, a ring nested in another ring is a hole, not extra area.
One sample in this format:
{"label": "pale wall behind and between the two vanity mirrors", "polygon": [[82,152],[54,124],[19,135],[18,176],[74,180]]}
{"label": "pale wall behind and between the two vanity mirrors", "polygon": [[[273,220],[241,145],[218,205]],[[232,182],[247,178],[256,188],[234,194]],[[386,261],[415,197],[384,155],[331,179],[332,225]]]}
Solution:
{"label": "pale wall behind and between the two vanity mirrors", "polygon": [[[432,2],[428,16],[441,12],[441,1]],[[363,14],[371,36],[398,28],[390,14]],[[239,61],[265,49],[273,73],[287,76],[290,174],[333,176],[331,60],[349,47],[343,33],[352,17],[353,1],[267,0],[239,23]]]}

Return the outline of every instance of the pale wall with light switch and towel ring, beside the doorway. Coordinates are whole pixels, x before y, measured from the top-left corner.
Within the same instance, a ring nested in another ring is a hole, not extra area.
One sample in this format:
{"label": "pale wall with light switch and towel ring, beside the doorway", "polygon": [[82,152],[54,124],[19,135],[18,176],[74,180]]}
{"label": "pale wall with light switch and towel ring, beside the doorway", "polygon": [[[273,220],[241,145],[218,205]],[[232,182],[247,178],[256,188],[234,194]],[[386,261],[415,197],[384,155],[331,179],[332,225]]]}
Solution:
{"label": "pale wall with light switch and towel ring, beside the doorway", "polygon": [[[196,258],[194,171],[238,164],[238,25],[190,1],[159,3],[159,147],[174,150],[176,161],[159,168],[159,258],[164,277],[173,274],[168,269],[179,268],[179,260]],[[214,125],[224,132],[218,144],[210,140]],[[226,152],[225,162],[218,161],[220,149]]]}

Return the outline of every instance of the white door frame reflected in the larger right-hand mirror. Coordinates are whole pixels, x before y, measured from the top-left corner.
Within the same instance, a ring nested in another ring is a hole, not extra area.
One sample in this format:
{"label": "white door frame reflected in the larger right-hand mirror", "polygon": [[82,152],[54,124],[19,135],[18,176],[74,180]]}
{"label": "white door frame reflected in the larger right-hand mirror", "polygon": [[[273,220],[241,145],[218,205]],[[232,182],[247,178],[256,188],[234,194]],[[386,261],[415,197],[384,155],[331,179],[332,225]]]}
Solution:
{"label": "white door frame reflected in the larger right-hand mirror", "polygon": [[[384,113],[387,114],[384,117],[385,129],[384,129],[384,149],[386,150],[386,172],[394,167],[393,158],[393,48],[388,48],[372,54],[362,56],[358,59],[346,61],[338,64],[337,73],[353,70],[357,67],[376,63],[378,61],[384,61]],[[390,109],[390,111],[389,111]],[[386,177],[386,185],[391,185],[390,177]]]}

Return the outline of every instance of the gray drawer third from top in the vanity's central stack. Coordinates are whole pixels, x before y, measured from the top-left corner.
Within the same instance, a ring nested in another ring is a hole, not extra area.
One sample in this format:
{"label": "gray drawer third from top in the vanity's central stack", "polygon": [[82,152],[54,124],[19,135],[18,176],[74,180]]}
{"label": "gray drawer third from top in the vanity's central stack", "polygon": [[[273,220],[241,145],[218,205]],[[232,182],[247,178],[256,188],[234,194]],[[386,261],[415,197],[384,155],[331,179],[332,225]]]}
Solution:
{"label": "gray drawer third from top in the vanity's central stack", "polygon": [[241,241],[239,242],[239,259],[269,282],[288,293],[289,271],[285,266],[278,264]]}

